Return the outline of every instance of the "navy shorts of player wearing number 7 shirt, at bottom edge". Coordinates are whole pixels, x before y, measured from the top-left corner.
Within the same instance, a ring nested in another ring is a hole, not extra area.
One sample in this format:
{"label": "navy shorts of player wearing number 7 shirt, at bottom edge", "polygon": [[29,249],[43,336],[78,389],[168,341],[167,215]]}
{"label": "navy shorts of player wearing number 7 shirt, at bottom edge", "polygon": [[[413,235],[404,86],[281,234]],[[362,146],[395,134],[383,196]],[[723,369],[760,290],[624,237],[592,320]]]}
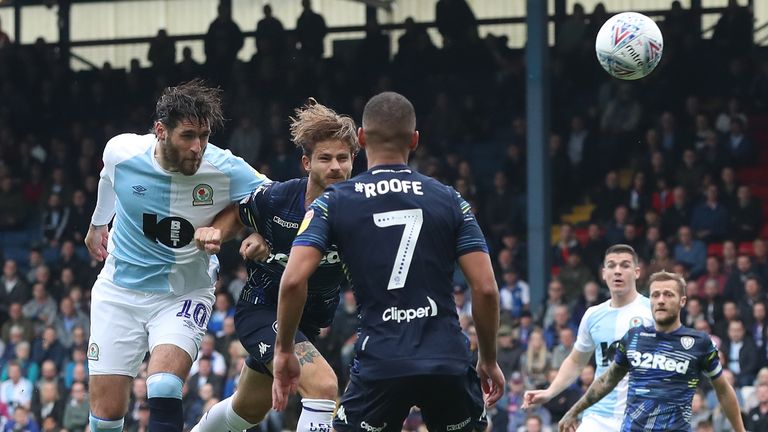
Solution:
{"label": "navy shorts of player wearing number 7 shirt, at bottom edge", "polygon": [[412,406],[427,429],[485,430],[488,420],[474,368],[465,375],[417,375],[364,381],[350,376],[333,419],[336,431],[400,432]]}

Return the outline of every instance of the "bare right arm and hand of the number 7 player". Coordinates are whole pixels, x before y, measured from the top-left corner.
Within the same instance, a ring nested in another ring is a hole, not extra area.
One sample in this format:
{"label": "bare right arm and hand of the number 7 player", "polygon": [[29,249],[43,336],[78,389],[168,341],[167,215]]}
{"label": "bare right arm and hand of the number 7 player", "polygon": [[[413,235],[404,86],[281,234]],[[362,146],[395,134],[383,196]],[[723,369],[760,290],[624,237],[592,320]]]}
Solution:
{"label": "bare right arm and hand of the number 7 player", "polygon": [[499,330],[499,288],[485,252],[459,257],[459,266],[472,290],[472,319],[477,329],[479,355],[477,373],[489,407],[504,393],[504,374],[496,362],[496,333]]}

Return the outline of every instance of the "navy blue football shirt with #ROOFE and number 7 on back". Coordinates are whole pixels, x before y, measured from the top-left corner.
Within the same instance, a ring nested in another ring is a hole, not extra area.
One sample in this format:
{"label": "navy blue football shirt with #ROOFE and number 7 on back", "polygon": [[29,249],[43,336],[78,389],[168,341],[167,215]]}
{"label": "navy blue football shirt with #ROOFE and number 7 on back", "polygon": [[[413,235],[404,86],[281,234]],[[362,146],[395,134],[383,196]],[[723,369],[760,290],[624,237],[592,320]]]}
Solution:
{"label": "navy blue football shirt with #ROOFE and number 7 on back", "polygon": [[347,265],[361,319],[352,373],[466,373],[452,275],[459,256],[488,248],[453,188],[407,165],[376,166],[317,198],[293,244],[335,244]]}

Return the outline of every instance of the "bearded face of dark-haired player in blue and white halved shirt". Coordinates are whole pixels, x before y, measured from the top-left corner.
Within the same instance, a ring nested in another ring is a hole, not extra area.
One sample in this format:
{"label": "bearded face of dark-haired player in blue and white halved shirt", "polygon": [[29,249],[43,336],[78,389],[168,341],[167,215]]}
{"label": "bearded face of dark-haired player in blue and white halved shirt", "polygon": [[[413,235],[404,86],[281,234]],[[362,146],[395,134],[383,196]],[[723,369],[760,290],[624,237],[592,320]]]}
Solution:
{"label": "bearded face of dark-haired player in blue and white halved shirt", "polygon": [[207,124],[188,120],[168,130],[165,139],[161,139],[161,151],[168,167],[184,175],[195,174],[203,161],[210,133]]}

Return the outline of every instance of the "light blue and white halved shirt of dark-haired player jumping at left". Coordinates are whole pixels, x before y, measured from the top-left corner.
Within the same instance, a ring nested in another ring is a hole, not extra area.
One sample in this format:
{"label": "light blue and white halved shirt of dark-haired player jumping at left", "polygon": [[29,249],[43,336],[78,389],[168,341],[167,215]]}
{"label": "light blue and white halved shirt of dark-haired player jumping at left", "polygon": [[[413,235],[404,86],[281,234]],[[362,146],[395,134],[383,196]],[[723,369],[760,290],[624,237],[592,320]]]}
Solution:
{"label": "light blue and white halved shirt of dark-haired player jumping at left", "polygon": [[[169,172],[155,159],[156,146],[154,134],[122,134],[104,149],[99,200],[114,199],[115,218],[99,277],[143,292],[211,288],[218,259],[195,247],[195,230],[269,179],[210,143],[197,173]],[[103,225],[111,215],[104,218],[94,214],[92,222]]]}

